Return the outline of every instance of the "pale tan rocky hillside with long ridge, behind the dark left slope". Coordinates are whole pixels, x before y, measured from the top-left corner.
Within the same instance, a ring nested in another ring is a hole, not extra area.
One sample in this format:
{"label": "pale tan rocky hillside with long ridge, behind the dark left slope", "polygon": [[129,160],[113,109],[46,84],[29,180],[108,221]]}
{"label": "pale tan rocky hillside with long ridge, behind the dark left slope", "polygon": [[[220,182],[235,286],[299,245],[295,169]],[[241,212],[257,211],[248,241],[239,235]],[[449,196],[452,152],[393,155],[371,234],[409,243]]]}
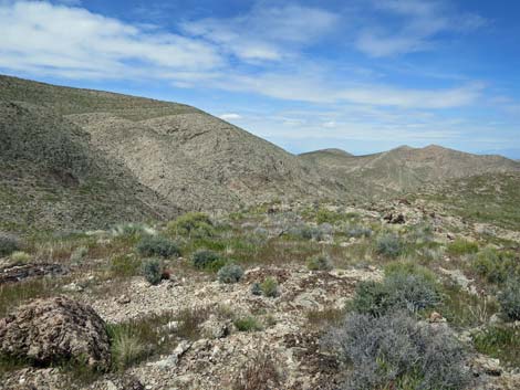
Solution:
{"label": "pale tan rocky hillside with long ridge, behind the dark left slope", "polygon": [[12,77],[0,77],[0,88],[4,99],[63,115],[106,158],[184,209],[333,193],[298,157],[194,107]]}

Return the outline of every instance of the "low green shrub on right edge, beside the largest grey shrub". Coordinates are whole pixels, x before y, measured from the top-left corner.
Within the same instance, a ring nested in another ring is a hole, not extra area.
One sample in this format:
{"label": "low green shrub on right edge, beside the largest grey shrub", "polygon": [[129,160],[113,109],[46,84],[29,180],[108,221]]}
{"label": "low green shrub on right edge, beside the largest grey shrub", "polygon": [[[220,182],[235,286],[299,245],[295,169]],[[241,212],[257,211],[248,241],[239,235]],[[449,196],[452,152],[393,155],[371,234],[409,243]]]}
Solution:
{"label": "low green shrub on right edge, beside the largest grey shrub", "polygon": [[520,326],[490,326],[474,337],[475,349],[503,365],[520,366]]}

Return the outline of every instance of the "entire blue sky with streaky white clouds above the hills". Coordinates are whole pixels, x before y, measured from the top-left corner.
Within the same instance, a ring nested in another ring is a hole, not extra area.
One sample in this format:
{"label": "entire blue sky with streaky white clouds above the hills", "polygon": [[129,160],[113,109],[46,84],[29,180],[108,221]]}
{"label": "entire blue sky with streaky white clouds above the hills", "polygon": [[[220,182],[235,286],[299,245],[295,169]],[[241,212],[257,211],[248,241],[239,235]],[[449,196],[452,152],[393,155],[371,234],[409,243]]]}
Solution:
{"label": "entire blue sky with streaky white clouds above the hills", "polygon": [[520,158],[519,15],[514,0],[0,0],[0,72],[187,103],[292,152]]}

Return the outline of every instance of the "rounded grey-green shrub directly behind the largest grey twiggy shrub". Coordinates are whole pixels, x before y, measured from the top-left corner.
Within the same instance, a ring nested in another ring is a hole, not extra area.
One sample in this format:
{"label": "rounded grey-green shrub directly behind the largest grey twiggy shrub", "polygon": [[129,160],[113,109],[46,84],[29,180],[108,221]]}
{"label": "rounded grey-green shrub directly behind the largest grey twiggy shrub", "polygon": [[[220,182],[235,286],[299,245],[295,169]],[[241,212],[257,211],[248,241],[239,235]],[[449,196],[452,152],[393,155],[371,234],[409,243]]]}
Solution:
{"label": "rounded grey-green shrub directly behind the largest grey twiggy shrub", "polygon": [[385,270],[383,282],[361,282],[352,308],[362,314],[382,316],[391,310],[416,313],[441,302],[440,287],[429,270],[395,263]]}

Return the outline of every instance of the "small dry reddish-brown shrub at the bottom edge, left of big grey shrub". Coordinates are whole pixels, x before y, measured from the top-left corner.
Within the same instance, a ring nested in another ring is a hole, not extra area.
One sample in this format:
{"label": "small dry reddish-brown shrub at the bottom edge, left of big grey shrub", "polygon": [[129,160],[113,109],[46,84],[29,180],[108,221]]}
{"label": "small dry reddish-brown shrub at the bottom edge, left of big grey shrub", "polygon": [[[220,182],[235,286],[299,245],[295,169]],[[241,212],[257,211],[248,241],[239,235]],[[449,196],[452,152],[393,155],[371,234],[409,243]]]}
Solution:
{"label": "small dry reddish-brown shrub at the bottom edge, left of big grey shrub", "polygon": [[258,355],[239,371],[232,390],[272,390],[281,387],[282,376],[274,360],[268,355]]}

